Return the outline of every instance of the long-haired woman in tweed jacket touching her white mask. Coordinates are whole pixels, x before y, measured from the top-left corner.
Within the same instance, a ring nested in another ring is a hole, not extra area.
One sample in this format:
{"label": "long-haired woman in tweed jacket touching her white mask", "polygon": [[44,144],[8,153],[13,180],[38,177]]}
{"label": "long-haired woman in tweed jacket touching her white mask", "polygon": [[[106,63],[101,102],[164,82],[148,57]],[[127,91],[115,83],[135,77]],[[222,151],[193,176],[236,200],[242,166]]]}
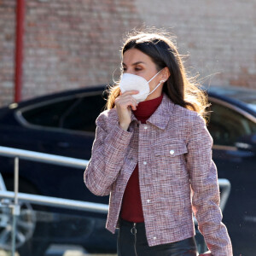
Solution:
{"label": "long-haired woman in tweed jacket touching her white mask", "polygon": [[206,126],[207,96],[185,73],[172,40],[137,32],[122,49],[123,74],[96,119],[84,183],[110,195],[106,228],[119,256],[231,256],[219,208],[217,168]]}

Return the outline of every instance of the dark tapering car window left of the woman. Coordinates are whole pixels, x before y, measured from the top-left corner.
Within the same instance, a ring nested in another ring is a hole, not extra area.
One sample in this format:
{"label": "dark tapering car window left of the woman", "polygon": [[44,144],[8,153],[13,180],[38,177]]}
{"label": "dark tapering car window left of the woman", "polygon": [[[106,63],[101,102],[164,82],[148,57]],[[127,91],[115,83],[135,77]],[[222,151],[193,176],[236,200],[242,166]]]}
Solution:
{"label": "dark tapering car window left of the woman", "polygon": [[105,104],[106,101],[99,94],[51,102],[23,111],[22,115],[32,125],[96,131],[95,121]]}

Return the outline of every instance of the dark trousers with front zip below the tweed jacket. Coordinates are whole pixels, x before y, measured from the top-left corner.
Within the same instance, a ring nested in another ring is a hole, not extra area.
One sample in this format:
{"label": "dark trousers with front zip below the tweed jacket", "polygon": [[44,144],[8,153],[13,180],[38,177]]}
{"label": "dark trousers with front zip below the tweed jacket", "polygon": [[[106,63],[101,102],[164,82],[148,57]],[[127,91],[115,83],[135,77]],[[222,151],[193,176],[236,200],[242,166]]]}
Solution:
{"label": "dark trousers with front zip below the tweed jacket", "polygon": [[197,248],[195,237],[148,246],[144,223],[134,224],[120,220],[118,233],[118,256],[196,256]]}

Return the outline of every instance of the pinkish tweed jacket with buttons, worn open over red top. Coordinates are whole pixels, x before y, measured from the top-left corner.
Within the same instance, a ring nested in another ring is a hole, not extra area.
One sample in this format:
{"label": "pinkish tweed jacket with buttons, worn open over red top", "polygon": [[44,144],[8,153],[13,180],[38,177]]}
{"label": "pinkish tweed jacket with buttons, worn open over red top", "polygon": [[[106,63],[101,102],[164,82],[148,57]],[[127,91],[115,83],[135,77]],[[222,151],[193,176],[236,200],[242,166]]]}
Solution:
{"label": "pinkish tweed jacket with buttons, worn open over red top", "polygon": [[119,228],[125,186],[138,162],[139,185],[148,245],[195,236],[192,212],[214,256],[232,256],[230,236],[219,208],[212,137],[204,119],[164,93],[142,124],[131,112],[128,131],[119,126],[116,108],[96,119],[96,137],[84,171],[95,195],[110,195],[106,228]]}

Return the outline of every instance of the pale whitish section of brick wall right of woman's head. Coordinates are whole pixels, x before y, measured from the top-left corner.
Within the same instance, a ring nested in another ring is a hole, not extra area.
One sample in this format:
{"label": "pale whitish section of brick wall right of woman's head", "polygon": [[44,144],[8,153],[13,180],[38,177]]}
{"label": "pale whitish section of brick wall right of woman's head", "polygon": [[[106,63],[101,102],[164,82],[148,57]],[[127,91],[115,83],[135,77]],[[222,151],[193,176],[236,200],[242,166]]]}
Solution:
{"label": "pale whitish section of brick wall right of woman's head", "polygon": [[[256,89],[256,1],[137,1],[149,26],[169,27],[186,67],[207,84]],[[190,68],[191,67],[191,68]]]}

